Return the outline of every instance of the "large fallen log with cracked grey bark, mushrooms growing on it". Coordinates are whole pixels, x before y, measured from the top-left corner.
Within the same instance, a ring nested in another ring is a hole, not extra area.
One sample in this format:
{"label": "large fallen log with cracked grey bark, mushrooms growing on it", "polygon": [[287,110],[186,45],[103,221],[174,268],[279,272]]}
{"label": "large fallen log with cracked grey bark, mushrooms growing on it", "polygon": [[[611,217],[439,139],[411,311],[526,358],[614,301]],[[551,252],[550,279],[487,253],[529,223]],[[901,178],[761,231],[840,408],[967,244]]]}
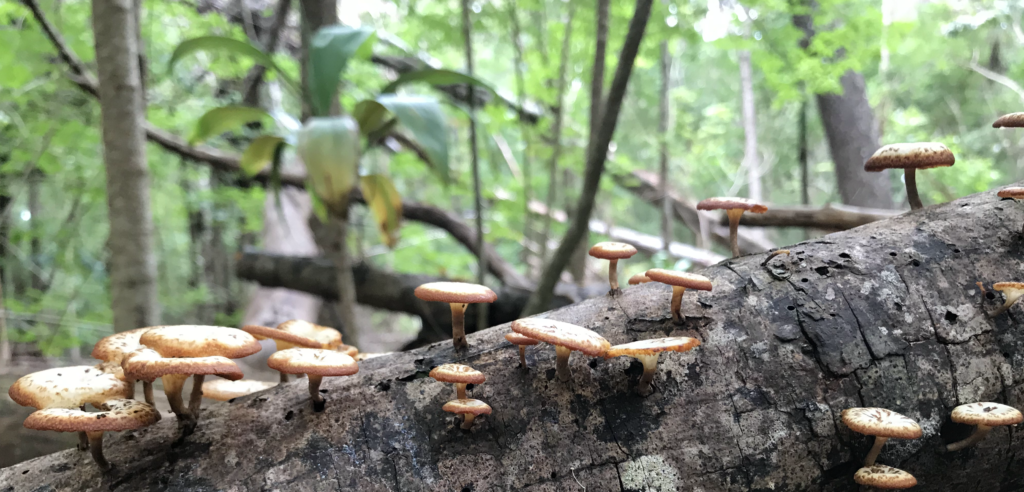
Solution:
{"label": "large fallen log with cracked grey bark, mushrooms growing on it", "polygon": [[[701,346],[663,355],[655,392],[635,395],[640,365],[571,356],[568,383],[554,351],[526,348],[528,370],[499,326],[470,336],[487,375],[470,391],[494,413],[471,430],[441,411],[454,392],[427,377],[456,360],[450,344],[370,359],[327,378],[313,413],[304,381],[211,403],[196,434],[172,447],[173,419],[110,437],[114,469],[67,450],[0,470],[4,490],[705,490],[856,491],[872,439],[842,410],[890,408],[919,440],[892,440],[880,462],[913,474],[914,490],[1024,490],[1024,439],[996,427],[976,448],[940,453],[972,427],[952,407],[1024,405],[1022,308],[975,287],[1024,268],[1024,210],[994,193],[909,212],[856,231],[701,272],[672,324],[670,290],[628,288],[545,316],[612,343],[665,335]],[[893,254],[890,254],[893,253]],[[352,404],[358,402],[358,404]]]}

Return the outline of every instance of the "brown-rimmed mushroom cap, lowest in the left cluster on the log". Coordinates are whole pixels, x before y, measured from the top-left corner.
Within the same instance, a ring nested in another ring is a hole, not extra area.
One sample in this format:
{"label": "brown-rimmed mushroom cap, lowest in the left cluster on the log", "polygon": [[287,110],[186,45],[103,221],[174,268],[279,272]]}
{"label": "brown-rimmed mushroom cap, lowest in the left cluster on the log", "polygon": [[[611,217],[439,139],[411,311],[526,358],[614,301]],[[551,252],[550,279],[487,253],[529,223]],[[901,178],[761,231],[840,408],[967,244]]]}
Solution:
{"label": "brown-rimmed mushroom cap, lowest in the left cluster on the log", "polygon": [[160,420],[160,412],[153,405],[138,400],[109,400],[101,408],[99,412],[77,408],[37,410],[25,419],[25,426],[35,430],[94,433],[140,428]]}

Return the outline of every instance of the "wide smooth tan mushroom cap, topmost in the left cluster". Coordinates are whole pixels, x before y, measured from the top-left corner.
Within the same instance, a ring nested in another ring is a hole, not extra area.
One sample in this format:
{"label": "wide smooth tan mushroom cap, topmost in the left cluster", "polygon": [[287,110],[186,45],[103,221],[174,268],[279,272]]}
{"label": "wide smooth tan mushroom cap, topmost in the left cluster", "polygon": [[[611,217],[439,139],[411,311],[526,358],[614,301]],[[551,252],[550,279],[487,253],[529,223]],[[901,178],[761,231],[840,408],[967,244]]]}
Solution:
{"label": "wide smooth tan mushroom cap, topmost in the left cluster", "polygon": [[262,348],[253,335],[222,326],[159,326],[142,333],[139,341],[164,357],[241,359]]}

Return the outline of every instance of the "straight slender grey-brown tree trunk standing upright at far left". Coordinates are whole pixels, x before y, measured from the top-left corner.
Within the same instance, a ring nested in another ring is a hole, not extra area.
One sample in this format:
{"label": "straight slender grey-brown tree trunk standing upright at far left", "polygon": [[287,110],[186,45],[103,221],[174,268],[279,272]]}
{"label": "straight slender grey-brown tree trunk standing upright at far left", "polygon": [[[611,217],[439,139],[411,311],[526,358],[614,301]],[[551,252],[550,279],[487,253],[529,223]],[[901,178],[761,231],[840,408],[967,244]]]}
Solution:
{"label": "straight slender grey-brown tree trunk standing upright at far left", "polygon": [[92,1],[116,331],[156,325],[160,320],[134,5],[134,0]]}

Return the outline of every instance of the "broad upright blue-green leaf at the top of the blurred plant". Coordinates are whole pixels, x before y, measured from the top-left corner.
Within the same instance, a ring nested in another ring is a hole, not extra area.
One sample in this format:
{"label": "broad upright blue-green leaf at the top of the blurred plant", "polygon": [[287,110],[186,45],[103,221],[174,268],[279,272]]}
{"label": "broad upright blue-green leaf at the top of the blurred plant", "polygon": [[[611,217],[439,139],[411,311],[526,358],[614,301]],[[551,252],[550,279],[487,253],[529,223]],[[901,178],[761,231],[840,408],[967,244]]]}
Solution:
{"label": "broad upright blue-green leaf at the top of the blurred plant", "polygon": [[376,34],[369,28],[327,26],[309,41],[309,105],[314,115],[331,111],[331,101],[348,60],[368,56]]}

